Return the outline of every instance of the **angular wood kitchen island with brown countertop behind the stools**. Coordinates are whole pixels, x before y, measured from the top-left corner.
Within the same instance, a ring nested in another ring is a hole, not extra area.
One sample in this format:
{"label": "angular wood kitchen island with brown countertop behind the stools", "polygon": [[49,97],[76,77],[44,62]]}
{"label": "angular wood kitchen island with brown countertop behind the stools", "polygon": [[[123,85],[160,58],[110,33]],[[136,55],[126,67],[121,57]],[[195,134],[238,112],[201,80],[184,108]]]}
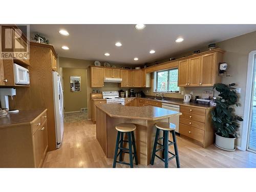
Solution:
{"label": "angular wood kitchen island with brown countertop behind the stools", "polygon": [[[134,123],[137,126],[135,134],[139,164],[150,164],[152,148],[156,135],[156,122],[167,122],[169,117],[181,113],[155,106],[125,106],[121,104],[96,105],[96,137],[106,157],[113,158],[119,123]],[[124,146],[126,147],[126,146]],[[128,160],[128,155],[124,155]]]}

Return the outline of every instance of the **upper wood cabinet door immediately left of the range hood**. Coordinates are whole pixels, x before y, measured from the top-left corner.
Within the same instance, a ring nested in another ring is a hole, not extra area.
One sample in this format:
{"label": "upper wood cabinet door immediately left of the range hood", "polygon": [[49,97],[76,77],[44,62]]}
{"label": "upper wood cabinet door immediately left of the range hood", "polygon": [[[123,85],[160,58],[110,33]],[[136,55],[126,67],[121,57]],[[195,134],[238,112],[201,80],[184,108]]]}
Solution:
{"label": "upper wood cabinet door immediately left of the range hood", "polygon": [[91,87],[104,87],[103,84],[103,68],[91,67]]}

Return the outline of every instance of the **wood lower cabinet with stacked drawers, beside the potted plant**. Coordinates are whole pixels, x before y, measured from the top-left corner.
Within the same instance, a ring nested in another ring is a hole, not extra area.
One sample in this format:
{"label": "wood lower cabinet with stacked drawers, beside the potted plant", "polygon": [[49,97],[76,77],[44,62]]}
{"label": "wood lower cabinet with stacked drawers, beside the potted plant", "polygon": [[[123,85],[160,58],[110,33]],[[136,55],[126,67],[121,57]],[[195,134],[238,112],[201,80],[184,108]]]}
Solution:
{"label": "wood lower cabinet with stacked drawers, beside the potted plant", "polygon": [[180,106],[179,133],[191,138],[203,147],[214,143],[214,129],[211,123],[211,108]]}

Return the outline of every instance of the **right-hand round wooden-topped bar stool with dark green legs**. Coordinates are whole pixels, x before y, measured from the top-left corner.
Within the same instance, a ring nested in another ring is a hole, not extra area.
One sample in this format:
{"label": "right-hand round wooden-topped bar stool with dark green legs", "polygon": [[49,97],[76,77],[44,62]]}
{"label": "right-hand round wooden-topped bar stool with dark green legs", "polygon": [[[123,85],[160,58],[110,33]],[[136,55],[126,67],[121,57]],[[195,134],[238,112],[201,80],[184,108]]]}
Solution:
{"label": "right-hand round wooden-topped bar stool with dark green legs", "polygon": [[[155,138],[154,147],[153,147],[151,164],[152,165],[154,164],[155,156],[156,156],[157,158],[159,158],[164,162],[164,168],[168,168],[168,161],[173,158],[176,158],[177,168],[180,168],[178,147],[177,147],[176,135],[175,135],[176,125],[173,123],[167,123],[167,122],[158,122],[155,125],[157,127],[157,132],[156,132],[156,138]],[[163,131],[163,137],[158,138],[160,130]],[[173,141],[169,141],[169,132],[171,132],[173,135]],[[158,142],[161,139],[163,139],[163,144]],[[160,148],[158,148],[158,150],[157,150],[157,144],[161,146]],[[169,146],[172,144],[174,145],[175,154],[173,154],[172,152],[169,152],[168,150]],[[156,155],[156,152],[161,150],[163,150],[163,158]],[[169,158],[168,154],[171,154],[172,157]]]}

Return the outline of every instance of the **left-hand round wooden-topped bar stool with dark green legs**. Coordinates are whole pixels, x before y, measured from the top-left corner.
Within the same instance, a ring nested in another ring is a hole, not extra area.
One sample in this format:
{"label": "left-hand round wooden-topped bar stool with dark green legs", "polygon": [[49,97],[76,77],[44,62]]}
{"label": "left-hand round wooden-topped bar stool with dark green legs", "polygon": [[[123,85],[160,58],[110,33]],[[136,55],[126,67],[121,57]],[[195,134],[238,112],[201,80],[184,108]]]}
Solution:
{"label": "left-hand round wooden-topped bar stool with dark green legs", "polygon": [[[116,167],[116,163],[121,163],[125,165],[130,165],[131,168],[133,168],[133,159],[135,158],[135,164],[138,164],[138,157],[137,157],[137,151],[136,151],[136,144],[135,144],[135,138],[134,138],[134,130],[136,130],[136,125],[132,123],[120,123],[116,125],[117,132],[117,138],[116,138],[116,150],[115,150],[115,156],[114,156],[114,162],[113,162],[113,168]],[[123,140],[123,133],[126,133],[128,136],[128,141]],[[120,138],[121,136],[121,138]],[[126,142],[129,144],[129,148],[123,148],[123,142]],[[120,146],[119,146],[120,144]],[[133,150],[132,150],[133,146]],[[119,150],[119,152],[118,152]],[[118,153],[117,153],[118,152]],[[122,161],[122,155],[123,153],[127,153],[130,156],[130,163],[126,163]],[[117,157],[119,156],[119,161],[117,161]]]}

